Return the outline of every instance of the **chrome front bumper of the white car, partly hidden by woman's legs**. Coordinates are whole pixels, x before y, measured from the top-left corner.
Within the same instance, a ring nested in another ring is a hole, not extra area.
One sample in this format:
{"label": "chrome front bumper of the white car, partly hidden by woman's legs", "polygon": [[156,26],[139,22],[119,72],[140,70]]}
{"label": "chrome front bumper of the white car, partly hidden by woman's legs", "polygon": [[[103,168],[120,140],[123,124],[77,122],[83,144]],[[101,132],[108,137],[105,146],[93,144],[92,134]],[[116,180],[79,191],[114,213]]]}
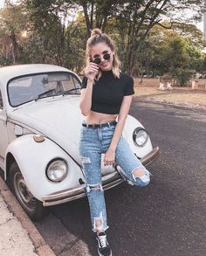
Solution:
{"label": "chrome front bumper of the white car, partly hidden by woman's legs", "polygon": [[[159,156],[159,148],[153,149],[147,156],[141,158],[141,163],[147,165],[153,162]],[[102,185],[104,190],[108,190],[113,188],[114,186],[122,183],[124,180],[119,175],[117,171],[108,174],[106,176],[102,176]],[[86,184],[80,184],[79,186],[69,189],[69,190],[61,190],[55,193],[52,193],[47,196],[42,197],[42,202],[44,206],[51,206],[56,204],[63,204],[66,202],[70,202],[72,200],[79,199],[81,197],[85,197],[85,188]]]}

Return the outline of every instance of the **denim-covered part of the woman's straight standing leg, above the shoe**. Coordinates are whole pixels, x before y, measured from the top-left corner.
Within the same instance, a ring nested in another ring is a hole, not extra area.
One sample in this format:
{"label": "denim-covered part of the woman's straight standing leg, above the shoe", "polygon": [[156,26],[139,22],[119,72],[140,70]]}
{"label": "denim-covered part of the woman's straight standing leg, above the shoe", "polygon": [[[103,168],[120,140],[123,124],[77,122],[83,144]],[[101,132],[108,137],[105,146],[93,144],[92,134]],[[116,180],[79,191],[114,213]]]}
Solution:
{"label": "denim-covered part of the woman's straight standing leg, above the shoe", "polygon": [[[89,201],[93,232],[105,232],[106,204],[101,183],[101,154],[95,135],[86,135],[79,144],[80,157],[86,176],[86,195]],[[96,144],[96,145],[95,145]]]}

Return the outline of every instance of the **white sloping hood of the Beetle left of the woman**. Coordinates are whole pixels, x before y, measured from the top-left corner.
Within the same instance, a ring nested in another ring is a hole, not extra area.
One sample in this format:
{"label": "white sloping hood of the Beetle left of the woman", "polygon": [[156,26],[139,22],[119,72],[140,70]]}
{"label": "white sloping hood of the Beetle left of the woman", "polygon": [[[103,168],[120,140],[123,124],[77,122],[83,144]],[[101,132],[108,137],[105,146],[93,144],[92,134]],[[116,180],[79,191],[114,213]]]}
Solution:
{"label": "white sloping hood of the Beetle left of the woman", "polygon": [[79,96],[32,101],[9,117],[49,137],[80,163],[78,144],[84,116],[79,110]]}

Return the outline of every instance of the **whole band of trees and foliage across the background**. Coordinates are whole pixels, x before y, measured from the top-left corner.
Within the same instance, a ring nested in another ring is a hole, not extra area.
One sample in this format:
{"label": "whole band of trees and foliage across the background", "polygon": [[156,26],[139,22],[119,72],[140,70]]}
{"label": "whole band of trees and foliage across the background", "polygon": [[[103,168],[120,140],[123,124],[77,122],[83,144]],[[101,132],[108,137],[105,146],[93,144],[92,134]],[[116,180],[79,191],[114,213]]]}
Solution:
{"label": "whole band of trees and foliage across the background", "polygon": [[[86,38],[99,27],[117,43],[121,69],[128,73],[177,77],[183,76],[181,69],[201,72],[205,67],[202,32],[176,16],[176,10],[181,13],[189,6],[198,14],[203,0],[6,2],[0,12],[3,65],[52,63],[81,73]],[[165,17],[170,21],[162,22]]]}

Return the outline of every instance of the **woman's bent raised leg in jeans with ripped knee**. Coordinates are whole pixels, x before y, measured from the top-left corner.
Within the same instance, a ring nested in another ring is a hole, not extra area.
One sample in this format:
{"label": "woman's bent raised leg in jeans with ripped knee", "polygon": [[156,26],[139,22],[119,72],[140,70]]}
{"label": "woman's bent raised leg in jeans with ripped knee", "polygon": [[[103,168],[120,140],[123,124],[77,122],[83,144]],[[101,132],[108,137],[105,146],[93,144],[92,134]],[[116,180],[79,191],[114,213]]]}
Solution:
{"label": "woman's bent raised leg in jeans with ripped knee", "polygon": [[140,160],[134,156],[128,143],[120,136],[120,141],[116,149],[115,161],[120,165],[120,174],[127,179],[128,183],[137,186],[146,186],[150,182],[149,171],[141,164]]}

